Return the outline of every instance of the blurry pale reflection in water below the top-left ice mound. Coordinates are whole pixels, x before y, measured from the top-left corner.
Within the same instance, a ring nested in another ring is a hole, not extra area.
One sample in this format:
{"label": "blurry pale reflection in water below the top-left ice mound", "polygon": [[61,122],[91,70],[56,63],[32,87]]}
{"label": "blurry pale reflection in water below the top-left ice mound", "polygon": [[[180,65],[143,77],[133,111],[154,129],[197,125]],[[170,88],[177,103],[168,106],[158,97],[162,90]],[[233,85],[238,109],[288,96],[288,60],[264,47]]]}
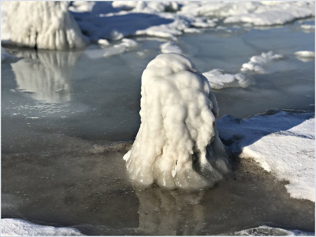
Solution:
{"label": "blurry pale reflection in water below the top-left ice mound", "polygon": [[11,64],[17,89],[31,92],[40,102],[70,101],[70,77],[80,55],[78,51],[22,51],[19,56],[26,59]]}

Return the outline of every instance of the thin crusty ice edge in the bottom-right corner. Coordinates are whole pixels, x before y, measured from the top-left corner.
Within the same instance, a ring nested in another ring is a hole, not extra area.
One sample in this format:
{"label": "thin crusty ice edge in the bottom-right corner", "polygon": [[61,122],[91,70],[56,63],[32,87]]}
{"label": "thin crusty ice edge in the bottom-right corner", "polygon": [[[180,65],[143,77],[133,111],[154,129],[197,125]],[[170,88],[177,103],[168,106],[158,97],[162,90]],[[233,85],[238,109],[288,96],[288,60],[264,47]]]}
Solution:
{"label": "thin crusty ice edge in the bottom-right corner", "polygon": [[270,226],[259,226],[246,230],[236,231],[233,235],[237,236],[315,236],[314,232],[305,232],[301,230],[288,230]]}

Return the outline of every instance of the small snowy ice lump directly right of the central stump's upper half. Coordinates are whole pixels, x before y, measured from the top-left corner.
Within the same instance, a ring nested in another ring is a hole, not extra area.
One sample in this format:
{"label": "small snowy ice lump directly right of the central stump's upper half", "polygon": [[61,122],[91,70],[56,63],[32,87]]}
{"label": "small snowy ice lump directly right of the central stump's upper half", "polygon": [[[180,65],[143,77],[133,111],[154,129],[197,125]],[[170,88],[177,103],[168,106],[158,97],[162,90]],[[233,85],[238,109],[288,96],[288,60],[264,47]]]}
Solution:
{"label": "small snowy ice lump directly right of the central stump's upper half", "polygon": [[251,84],[248,77],[243,73],[229,74],[224,73],[221,69],[213,69],[203,73],[203,75],[209,80],[211,88],[216,90],[228,87],[245,88]]}

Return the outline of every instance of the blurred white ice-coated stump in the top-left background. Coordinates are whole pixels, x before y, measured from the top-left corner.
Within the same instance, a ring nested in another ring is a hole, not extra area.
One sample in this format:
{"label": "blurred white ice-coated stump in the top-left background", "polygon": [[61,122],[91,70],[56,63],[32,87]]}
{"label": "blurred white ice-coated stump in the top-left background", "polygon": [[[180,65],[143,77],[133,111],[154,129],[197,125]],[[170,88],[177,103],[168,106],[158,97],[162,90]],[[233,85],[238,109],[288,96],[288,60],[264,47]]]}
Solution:
{"label": "blurred white ice-coated stump in the top-left background", "polygon": [[[38,49],[63,50],[86,45],[68,11],[68,2],[10,1],[4,29],[10,43]],[[3,39],[3,38],[2,38]]]}

